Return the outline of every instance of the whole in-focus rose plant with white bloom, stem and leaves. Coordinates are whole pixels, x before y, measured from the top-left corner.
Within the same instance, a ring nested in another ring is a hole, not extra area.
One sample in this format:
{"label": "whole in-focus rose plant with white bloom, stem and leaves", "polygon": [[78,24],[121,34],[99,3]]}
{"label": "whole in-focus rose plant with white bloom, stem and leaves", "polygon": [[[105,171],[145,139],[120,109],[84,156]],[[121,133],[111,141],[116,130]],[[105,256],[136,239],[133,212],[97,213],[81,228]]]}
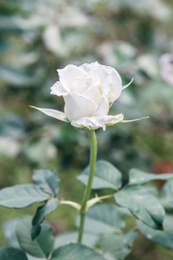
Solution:
{"label": "whole in-focus rose plant with white bloom, stem and leaves", "polygon": [[[5,236],[9,246],[0,248],[0,260],[123,260],[139,233],[173,248],[173,173],[155,174],[133,168],[124,183],[122,172],[113,164],[97,160],[97,129],[114,127],[116,131],[116,124],[125,127],[126,123],[143,119],[124,120],[122,114],[108,115],[111,105],[131,82],[122,86],[119,73],[98,62],[68,65],[57,71],[59,81],[52,86],[51,94],[63,97],[64,112],[34,108],[88,133],[90,161],[77,177],[85,185],[83,198],[77,203],[59,197],[58,174],[45,169],[34,170],[33,183],[1,189],[3,207],[14,210],[34,203],[41,205],[34,217],[7,222]],[[165,181],[162,190],[153,185],[156,180]],[[92,190],[99,191],[99,196],[91,197]],[[77,230],[55,236],[44,218],[58,211],[59,205],[76,209]],[[133,226],[128,225],[129,218],[133,218]]]}

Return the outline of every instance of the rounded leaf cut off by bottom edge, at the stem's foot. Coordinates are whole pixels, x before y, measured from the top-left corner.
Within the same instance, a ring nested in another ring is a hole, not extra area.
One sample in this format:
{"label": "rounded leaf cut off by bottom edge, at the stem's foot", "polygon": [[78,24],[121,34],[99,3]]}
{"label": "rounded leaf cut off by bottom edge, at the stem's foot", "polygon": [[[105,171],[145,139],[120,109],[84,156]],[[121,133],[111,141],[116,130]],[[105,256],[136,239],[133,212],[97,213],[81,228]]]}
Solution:
{"label": "rounded leaf cut off by bottom edge, at the stem's foot", "polygon": [[79,244],[69,244],[57,248],[51,260],[105,260],[102,255],[87,246]]}

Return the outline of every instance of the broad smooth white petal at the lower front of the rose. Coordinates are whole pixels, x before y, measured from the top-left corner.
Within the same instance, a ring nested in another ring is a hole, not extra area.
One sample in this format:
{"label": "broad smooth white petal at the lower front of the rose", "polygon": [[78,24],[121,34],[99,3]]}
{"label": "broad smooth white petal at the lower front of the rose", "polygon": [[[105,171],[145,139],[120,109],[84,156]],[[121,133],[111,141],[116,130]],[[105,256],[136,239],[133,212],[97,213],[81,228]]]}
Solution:
{"label": "broad smooth white petal at the lower front of the rose", "polygon": [[70,121],[77,120],[83,116],[92,116],[96,110],[96,103],[76,92],[70,92],[64,96],[64,101],[65,112]]}

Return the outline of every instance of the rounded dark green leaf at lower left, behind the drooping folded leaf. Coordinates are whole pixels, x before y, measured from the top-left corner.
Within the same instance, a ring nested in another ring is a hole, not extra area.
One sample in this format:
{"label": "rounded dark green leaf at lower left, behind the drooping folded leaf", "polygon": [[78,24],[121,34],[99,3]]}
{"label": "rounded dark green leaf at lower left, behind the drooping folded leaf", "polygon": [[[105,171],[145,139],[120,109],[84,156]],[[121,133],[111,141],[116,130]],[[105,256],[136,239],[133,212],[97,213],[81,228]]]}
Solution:
{"label": "rounded dark green leaf at lower left, behind the drooping folded leaf", "polygon": [[41,224],[41,231],[38,237],[33,241],[31,239],[32,218],[26,217],[16,225],[16,235],[18,242],[23,250],[29,255],[38,258],[46,258],[53,251],[54,237],[51,226],[46,222]]}

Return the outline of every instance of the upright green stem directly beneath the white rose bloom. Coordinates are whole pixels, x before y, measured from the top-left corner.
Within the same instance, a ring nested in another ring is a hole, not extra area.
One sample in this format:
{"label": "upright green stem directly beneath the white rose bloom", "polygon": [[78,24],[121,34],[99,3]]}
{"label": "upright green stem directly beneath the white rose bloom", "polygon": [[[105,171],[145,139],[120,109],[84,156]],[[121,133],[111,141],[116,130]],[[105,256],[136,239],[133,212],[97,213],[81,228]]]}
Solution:
{"label": "upright green stem directly beneath the white rose bloom", "polygon": [[86,206],[87,202],[90,198],[91,189],[92,189],[92,180],[94,177],[94,169],[96,165],[96,152],[97,152],[97,144],[96,144],[96,134],[94,130],[88,131],[89,138],[90,138],[90,170],[89,170],[89,178],[88,178],[88,184],[85,187],[85,192],[83,194],[83,200],[81,203],[81,219],[79,224],[79,234],[77,243],[81,244],[82,237],[83,237],[83,226],[85,223],[85,212],[86,212]]}

